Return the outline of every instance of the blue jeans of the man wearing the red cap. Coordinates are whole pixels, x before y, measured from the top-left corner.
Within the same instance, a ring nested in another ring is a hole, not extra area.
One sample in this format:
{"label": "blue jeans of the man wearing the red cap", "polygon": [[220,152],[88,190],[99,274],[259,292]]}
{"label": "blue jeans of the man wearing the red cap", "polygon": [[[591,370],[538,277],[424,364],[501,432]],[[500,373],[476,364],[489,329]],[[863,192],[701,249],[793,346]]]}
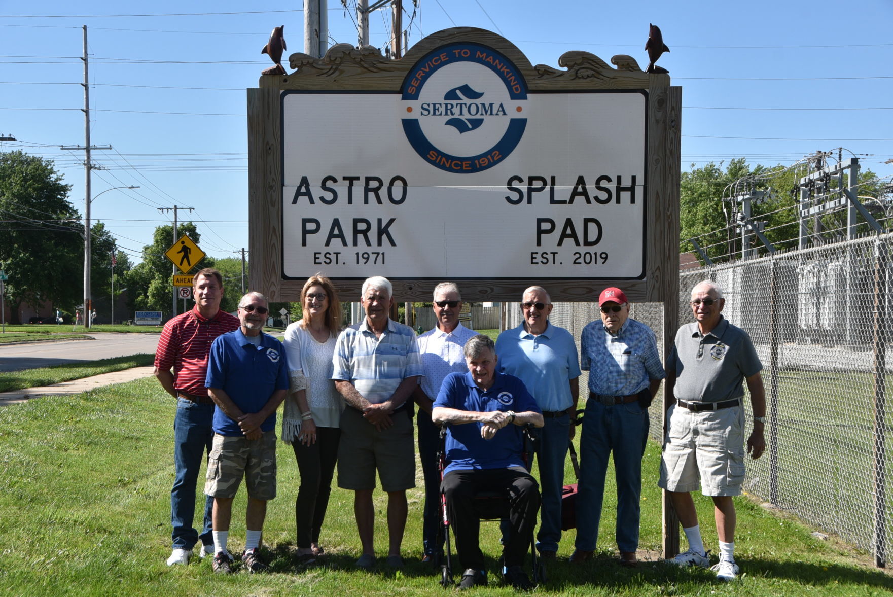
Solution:
{"label": "blue jeans of the man wearing the red cap", "polygon": [[648,441],[648,411],[638,402],[605,406],[588,399],[580,433],[580,483],[577,496],[578,550],[593,551],[605,497],[608,457],[613,452],[617,483],[617,529],[620,551],[638,548],[642,457]]}

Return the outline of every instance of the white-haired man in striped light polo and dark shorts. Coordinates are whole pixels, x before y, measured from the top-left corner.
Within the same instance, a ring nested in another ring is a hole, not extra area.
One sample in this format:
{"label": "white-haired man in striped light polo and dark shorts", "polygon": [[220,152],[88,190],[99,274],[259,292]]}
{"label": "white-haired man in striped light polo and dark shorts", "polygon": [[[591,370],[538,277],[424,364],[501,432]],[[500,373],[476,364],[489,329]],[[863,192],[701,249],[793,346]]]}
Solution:
{"label": "white-haired man in striped light polo and dark shorts", "polygon": [[415,487],[412,409],[406,405],[423,374],[413,328],[388,317],[394,302],[386,278],[363,282],[366,316],[338,336],[332,357],[335,387],[347,408],[341,416],[338,487],[355,492],[354,514],[363,546],[360,568],[375,563],[372,491],[378,469],[388,493],[388,566],[403,566],[400,543],[406,526],[406,490]]}

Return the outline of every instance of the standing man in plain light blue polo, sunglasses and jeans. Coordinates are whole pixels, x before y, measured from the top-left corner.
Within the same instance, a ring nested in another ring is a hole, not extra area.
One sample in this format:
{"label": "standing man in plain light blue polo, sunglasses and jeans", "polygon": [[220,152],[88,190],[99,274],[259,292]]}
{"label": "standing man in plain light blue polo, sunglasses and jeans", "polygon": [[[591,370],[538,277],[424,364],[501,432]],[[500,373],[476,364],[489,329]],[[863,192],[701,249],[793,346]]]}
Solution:
{"label": "standing man in plain light blue polo, sunglasses and jeans", "polygon": [[561,540],[561,495],[564,458],[573,437],[572,413],[580,399],[580,360],[571,332],[548,321],[552,299],[540,286],[524,290],[524,323],[499,334],[499,371],[521,379],[543,411],[539,430],[539,485],[543,496],[537,549],[555,559]]}

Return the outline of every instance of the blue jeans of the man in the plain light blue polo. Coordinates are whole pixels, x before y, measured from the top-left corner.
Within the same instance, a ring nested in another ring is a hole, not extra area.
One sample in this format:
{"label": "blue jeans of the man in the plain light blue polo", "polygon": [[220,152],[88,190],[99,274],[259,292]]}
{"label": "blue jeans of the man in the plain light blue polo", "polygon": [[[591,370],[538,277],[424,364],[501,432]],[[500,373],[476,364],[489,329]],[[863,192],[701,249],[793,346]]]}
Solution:
{"label": "blue jeans of the man in the plain light blue polo", "polygon": [[539,492],[542,509],[539,513],[537,549],[558,551],[561,541],[561,494],[564,485],[564,459],[571,444],[571,416],[544,417],[546,425],[538,429],[537,458]]}

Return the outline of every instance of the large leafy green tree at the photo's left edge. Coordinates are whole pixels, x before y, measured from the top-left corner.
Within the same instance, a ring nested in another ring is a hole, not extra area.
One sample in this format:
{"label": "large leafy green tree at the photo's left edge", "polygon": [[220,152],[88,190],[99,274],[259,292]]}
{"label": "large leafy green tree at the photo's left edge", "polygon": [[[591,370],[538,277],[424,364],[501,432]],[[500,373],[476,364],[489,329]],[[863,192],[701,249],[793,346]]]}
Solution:
{"label": "large leafy green tree at the photo's left edge", "polygon": [[70,190],[52,160],[0,153],[0,269],[12,324],[23,303],[71,310],[81,300],[83,237]]}

